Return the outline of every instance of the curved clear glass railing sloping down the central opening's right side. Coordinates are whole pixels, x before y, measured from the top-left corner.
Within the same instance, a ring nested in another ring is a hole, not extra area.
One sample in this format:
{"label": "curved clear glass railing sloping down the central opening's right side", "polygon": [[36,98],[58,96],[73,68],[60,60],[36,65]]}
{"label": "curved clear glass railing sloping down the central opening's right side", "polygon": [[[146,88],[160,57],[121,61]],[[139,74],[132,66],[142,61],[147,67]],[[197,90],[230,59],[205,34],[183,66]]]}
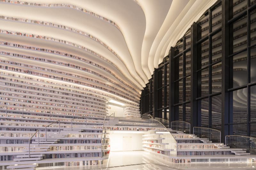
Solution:
{"label": "curved clear glass railing sloping down the central opening's right side", "polygon": [[156,128],[156,133],[161,133],[162,143],[165,143],[165,149],[170,150],[170,155],[177,156],[177,141],[172,136],[170,131],[158,120],[150,119],[151,127],[158,127]]}

